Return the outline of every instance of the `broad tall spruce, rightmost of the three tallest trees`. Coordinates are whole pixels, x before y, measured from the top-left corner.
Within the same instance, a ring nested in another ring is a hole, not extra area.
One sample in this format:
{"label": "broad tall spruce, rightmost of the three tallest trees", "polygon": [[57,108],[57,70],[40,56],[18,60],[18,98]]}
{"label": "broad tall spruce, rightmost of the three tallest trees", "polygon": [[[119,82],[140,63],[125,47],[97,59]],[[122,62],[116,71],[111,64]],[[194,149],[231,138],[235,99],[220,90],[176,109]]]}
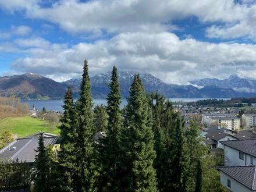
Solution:
{"label": "broad tall spruce, rightmost of the three tallest trees", "polygon": [[157,191],[154,133],[149,116],[148,99],[141,79],[136,74],[130,87],[130,97],[122,129],[123,190]]}

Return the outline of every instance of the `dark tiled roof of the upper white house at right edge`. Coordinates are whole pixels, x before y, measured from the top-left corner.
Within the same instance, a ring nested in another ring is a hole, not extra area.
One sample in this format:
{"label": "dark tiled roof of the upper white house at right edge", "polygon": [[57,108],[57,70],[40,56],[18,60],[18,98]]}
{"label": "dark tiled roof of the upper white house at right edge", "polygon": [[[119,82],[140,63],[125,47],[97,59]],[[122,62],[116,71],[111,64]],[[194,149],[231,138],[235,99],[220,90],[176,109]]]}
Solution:
{"label": "dark tiled roof of the upper white house at right edge", "polygon": [[232,140],[232,141],[221,141],[223,145],[227,145],[239,151],[243,151],[246,154],[256,157],[256,140]]}

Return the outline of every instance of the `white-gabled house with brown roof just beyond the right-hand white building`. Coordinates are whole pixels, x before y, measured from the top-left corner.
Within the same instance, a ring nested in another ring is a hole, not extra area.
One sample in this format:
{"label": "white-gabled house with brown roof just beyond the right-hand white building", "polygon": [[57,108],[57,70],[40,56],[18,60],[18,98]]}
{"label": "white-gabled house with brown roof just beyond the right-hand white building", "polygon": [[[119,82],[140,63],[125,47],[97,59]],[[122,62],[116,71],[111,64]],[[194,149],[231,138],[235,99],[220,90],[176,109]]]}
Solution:
{"label": "white-gabled house with brown roof just beyond the right-hand white building", "polygon": [[237,140],[236,137],[218,129],[210,130],[207,134],[204,135],[204,137],[205,137],[204,142],[210,145],[210,149],[215,149],[215,148],[223,149],[223,144],[221,143],[221,141]]}

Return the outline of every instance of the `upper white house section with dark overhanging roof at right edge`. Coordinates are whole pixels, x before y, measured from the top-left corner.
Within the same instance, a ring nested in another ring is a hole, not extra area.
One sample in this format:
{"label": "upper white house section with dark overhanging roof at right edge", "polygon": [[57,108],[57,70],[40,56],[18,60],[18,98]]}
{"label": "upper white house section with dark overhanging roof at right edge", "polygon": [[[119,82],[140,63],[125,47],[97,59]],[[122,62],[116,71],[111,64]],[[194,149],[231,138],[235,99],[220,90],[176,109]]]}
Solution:
{"label": "upper white house section with dark overhanging roof at right edge", "polygon": [[220,141],[223,144],[225,166],[256,164],[256,140]]}

